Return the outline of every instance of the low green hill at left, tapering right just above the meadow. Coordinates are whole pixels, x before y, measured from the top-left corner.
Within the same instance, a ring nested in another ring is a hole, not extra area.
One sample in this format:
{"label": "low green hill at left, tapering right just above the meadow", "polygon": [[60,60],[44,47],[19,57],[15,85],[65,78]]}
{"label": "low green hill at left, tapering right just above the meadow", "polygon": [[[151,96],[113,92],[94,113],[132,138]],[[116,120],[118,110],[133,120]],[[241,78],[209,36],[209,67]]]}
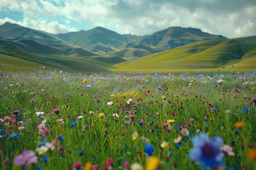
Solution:
{"label": "low green hill at left, tapering right just above the meadow", "polygon": [[[13,60],[13,58],[15,60]],[[24,65],[25,68],[31,69],[38,68],[37,66],[40,65],[47,66],[48,68],[60,68],[69,71],[89,72],[105,72],[115,68],[110,64],[91,58],[67,55],[31,54],[10,46],[2,45],[0,45],[0,59],[4,59],[4,61],[1,62],[1,71],[16,69],[16,65],[19,67]]]}

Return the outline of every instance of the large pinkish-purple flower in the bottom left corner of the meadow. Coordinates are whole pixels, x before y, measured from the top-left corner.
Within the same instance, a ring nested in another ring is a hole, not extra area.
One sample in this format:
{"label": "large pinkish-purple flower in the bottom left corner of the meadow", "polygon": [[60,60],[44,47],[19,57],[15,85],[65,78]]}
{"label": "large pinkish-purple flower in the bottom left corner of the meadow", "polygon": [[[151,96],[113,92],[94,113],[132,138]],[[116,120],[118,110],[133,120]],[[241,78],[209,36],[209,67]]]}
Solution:
{"label": "large pinkish-purple flower in the bottom left corner of the meadow", "polygon": [[15,165],[25,165],[26,168],[29,167],[30,163],[38,163],[38,157],[35,156],[35,153],[33,150],[28,150],[22,152],[22,154],[18,155],[13,160]]}

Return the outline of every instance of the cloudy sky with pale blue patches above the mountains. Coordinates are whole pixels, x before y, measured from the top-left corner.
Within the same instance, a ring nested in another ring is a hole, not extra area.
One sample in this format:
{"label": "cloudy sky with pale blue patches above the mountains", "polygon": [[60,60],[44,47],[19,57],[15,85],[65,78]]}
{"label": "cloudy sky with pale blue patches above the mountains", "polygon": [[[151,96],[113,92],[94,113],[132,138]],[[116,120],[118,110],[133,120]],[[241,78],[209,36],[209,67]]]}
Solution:
{"label": "cloudy sky with pale blue patches above the mountains", "polygon": [[0,0],[5,22],[49,33],[102,26],[132,35],[181,26],[238,38],[256,35],[256,0]]}

